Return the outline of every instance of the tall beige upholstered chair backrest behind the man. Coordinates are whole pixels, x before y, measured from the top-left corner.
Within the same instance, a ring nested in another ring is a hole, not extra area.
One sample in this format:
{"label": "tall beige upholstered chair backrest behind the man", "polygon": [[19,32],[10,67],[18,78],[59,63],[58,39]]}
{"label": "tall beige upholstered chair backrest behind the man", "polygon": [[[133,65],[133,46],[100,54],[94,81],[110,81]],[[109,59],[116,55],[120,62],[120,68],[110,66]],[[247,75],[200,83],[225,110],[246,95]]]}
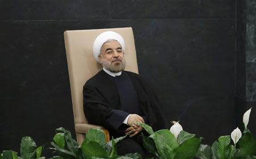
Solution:
{"label": "tall beige upholstered chair backrest behind the man", "polygon": [[105,31],[114,31],[123,36],[126,44],[125,70],[138,73],[132,28],[65,31],[64,39],[75,124],[88,123],[83,110],[82,87],[89,78],[102,69],[102,66],[94,59],[92,48],[96,37]]}

